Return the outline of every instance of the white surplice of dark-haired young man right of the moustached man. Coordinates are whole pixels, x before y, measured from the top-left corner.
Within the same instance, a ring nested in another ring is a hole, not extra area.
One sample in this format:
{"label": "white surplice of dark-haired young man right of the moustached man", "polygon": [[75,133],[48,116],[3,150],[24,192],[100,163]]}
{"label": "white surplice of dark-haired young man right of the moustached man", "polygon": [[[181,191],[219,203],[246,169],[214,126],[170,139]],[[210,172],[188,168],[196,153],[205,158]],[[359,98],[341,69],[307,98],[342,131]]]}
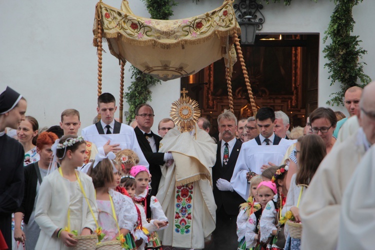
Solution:
{"label": "white surplice of dark-haired young man right of the moustached man", "polygon": [[230,179],[233,189],[246,200],[250,188],[247,183],[246,172],[252,171],[260,174],[260,167],[263,164],[268,165],[268,162],[279,165],[286,150],[294,142],[295,140],[281,138],[278,145],[258,145],[255,139],[242,143],[233,175]]}

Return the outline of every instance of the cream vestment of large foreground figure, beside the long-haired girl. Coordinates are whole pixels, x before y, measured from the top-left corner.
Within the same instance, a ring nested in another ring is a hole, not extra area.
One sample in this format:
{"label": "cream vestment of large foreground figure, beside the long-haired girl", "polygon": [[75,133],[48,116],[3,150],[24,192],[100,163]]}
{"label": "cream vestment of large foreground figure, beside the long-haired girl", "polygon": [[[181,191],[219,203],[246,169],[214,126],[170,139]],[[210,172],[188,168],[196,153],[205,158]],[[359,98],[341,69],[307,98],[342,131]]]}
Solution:
{"label": "cream vestment of large foreground figure, beside the long-haired girl", "polygon": [[342,195],[365,153],[362,128],[333,147],[317,168],[300,202],[301,249],[337,249]]}

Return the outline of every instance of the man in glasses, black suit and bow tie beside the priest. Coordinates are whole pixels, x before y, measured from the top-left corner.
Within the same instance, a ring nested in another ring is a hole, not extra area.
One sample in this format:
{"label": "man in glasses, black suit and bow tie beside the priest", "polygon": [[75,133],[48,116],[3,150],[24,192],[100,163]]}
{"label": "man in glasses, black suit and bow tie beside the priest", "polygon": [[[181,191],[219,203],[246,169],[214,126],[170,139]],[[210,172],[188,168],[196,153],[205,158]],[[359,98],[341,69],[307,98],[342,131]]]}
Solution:
{"label": "man in glasses, black suit and bow tie beside the priest", "polygon": [[163,165],[164,161],[172,159],[172,154],[158,152],[159,142],[162,138],[151,131],[153,117],[153,109],[149,104],[143,103],[136,107],[135,120],[137,122],[137,126],[134,128],[134,131],[140,149],[142,150],[149,164],[149,171],[152,176],[152,189],[150,194],[156,195],[161,178],[160,165]]}

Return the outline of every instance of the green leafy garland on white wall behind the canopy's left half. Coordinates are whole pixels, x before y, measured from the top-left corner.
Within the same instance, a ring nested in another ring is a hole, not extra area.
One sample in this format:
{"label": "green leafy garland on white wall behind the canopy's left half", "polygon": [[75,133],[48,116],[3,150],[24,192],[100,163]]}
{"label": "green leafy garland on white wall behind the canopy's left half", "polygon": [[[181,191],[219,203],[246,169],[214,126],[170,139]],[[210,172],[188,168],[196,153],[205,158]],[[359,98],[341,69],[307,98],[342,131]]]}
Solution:
{"label": "green leafy garland on white wall behind the canopy's left half", "polygon": [[[146,8],[151,15],[152,19],[167,20],[173,15],[172,6],[177,5],[174,0],[143,0],[146,4]],[[161,81],[149,74],[143,73],[131,65],[129,71],[131,71],[131,82],[130,86],[127,87],[127,92],[123,94],[126,102],[129,104],[129,114],[126,116],[126,121],[129,124],[135,117],[135,108],[142,103],[151,100],[152,91],[149,89],[150,86],[161,84]]]}

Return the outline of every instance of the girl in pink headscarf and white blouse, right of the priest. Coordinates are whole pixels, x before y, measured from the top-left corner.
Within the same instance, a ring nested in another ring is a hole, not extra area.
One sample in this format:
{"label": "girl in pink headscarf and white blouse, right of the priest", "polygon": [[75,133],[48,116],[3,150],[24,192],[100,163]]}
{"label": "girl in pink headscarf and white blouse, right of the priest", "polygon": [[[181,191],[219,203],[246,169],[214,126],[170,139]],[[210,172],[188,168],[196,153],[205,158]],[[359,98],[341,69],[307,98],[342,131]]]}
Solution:
{"label": "girl in pink headscarf and white blouse, right of the priest", "polygon": [[[257,199],[262,211],[260,219],[256,217],[256,212],[250,214],[246,222],[246,247],[255,249],[265,249],[269,237],[276,235],[276,200],[277,188],[275,183],[266,180],[261,181],[257,186]],[[260,209],[259,209],[260,210]]]}

